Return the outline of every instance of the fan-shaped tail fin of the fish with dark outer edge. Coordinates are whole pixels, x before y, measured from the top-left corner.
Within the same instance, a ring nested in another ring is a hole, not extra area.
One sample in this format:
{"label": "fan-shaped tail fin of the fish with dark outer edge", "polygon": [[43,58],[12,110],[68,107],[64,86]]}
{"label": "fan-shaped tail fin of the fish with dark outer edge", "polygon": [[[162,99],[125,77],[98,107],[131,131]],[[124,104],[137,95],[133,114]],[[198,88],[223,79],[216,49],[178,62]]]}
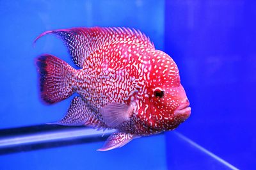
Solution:
{"label": "fan-shaped tail fin of the fish with dark outer edge", "polygon": [[50,54],[36,59],[40,73],[41,97],[47,104],[60,102],[74,93],[72,79],[76,71],[65,61]]}

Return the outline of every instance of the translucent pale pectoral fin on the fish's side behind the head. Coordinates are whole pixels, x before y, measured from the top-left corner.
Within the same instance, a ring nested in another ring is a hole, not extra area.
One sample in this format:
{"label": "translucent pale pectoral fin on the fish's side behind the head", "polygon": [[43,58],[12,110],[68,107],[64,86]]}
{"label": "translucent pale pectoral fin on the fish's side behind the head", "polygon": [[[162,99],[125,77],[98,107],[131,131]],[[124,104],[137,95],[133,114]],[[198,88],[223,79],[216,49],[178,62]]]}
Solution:
{"label": "translucent pale pectoral fin on the fish's side behind the head", "polygon": [[125,104],[110,103],[100,109],[100,114],[108,127],[116,128],[130,119],[132,108]]}

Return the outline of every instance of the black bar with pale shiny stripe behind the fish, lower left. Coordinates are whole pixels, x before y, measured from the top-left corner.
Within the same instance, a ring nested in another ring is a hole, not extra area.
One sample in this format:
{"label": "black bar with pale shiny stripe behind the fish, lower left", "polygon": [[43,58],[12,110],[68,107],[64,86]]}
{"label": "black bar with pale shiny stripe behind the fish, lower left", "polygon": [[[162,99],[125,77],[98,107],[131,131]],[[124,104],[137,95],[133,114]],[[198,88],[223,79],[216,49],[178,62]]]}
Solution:
{"label": "black bar with pale shiny stripe behind the fish, lower left", "polygon": [[[115,130],[37,125],[0,130],[0,155],[104,141]],[[103,135],[103,137],[102,137]]]}

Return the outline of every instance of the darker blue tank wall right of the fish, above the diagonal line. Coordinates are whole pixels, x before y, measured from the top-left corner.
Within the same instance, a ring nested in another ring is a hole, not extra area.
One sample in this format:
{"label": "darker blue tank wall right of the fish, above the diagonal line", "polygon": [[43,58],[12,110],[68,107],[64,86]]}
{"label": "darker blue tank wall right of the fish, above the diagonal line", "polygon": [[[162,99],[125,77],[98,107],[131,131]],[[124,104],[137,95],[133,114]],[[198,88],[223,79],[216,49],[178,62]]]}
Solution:
{"label": "darker blue tank wall right of the fish, above the diagonal line", "polygon": [[255,1],[166,1],[164,49],[192,114],[179,132],[230,164],[256,169]]}

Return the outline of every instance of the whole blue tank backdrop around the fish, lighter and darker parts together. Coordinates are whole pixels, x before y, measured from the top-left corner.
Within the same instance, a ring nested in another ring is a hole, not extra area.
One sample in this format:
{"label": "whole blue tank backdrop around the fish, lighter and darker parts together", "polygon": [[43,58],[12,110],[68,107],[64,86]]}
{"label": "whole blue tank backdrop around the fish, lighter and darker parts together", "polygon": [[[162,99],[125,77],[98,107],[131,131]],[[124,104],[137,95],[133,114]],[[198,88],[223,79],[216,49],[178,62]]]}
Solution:
{"label": "whole blue tank backdrop around the fish, lighter and darker parts together", "polygon": [[[239,169],[256,168],[256,4],[245,0],[0,1],[0,128],[60,120],[70,102],[38,97],[34,59],[50,53],[74,66],[51,29],[138,28],[175,60],[192,113],[177,129]],[[0,156],[1,169],[227,169],[173,132],[99,153],[103,143]],[[13,164],[13,162],[17,162]]]}

